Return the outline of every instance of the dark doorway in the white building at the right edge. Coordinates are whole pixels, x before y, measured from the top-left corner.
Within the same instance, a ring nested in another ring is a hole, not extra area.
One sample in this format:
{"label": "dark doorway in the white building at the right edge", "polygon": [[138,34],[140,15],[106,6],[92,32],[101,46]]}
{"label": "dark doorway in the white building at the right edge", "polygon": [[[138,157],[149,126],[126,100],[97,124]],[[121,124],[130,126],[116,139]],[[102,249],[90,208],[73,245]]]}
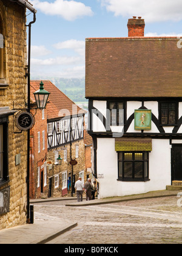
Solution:
{"label": "dark doorway in the white building at the right edge", "polygon": [[172,180],[182,180],[182,145],[172,145]]}

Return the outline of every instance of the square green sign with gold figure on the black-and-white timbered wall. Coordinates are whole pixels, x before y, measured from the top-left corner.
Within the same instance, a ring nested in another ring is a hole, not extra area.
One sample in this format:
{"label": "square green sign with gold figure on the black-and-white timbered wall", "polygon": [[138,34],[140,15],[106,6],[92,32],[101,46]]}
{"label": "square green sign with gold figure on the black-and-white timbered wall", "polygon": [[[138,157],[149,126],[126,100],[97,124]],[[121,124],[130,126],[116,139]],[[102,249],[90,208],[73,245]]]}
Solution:
{"label": "square green sign with gold figure on the black-and-white timbered wall", "polygon": [[135,110],[135,130],[151,130],[152,112],[148,109]]}

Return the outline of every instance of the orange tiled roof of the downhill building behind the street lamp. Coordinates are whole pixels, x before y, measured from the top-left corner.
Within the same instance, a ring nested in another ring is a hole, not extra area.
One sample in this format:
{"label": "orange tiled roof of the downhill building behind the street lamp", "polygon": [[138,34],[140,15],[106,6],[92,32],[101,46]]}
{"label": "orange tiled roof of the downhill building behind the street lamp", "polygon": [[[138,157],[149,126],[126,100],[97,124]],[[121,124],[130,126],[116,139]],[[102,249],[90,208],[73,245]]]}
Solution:
{"label": "orange tiled roof of the downhill building behind the street lamp", "polygon": [[[73,101],[71,101],[62,91],[60,91],[49,80],[43,80],[44,89],[49,91],[49,102],[47,103],[47,118],[56,119],[69,115],[77,115],[78,113],[86,113],[82,108],[78,107]],[[41,80],[30,81],[31,99],[33,102],[33,93],[39,90],[39,84]]]}

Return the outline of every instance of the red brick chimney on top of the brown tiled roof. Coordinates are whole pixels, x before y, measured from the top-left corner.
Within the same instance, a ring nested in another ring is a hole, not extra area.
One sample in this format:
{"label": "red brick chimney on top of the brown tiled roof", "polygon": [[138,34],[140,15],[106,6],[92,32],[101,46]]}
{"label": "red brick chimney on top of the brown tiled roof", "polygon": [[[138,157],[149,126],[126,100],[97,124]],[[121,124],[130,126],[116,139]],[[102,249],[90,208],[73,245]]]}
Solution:
{"label": "red brick chimney on top of the brown tiled roof", "polygon": [[137,19],[136,16],[133,16],[128,20],[127,27],[129,37],[144,37],[145,22],[141,17]]}

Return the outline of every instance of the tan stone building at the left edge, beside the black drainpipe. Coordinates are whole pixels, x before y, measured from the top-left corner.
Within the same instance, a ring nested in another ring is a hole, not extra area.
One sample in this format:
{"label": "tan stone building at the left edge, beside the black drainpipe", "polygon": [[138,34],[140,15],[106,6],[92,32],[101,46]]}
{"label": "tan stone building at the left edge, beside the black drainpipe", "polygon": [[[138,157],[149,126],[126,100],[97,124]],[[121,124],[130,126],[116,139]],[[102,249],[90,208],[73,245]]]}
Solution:
{"label": "tan stone building at the left edge, beside the black drainpipe", "polygon": [[27,103],[26,7],[35,11],[27,1],[0,0],[0,229],[27,221],[27,132],[13,117]]}

